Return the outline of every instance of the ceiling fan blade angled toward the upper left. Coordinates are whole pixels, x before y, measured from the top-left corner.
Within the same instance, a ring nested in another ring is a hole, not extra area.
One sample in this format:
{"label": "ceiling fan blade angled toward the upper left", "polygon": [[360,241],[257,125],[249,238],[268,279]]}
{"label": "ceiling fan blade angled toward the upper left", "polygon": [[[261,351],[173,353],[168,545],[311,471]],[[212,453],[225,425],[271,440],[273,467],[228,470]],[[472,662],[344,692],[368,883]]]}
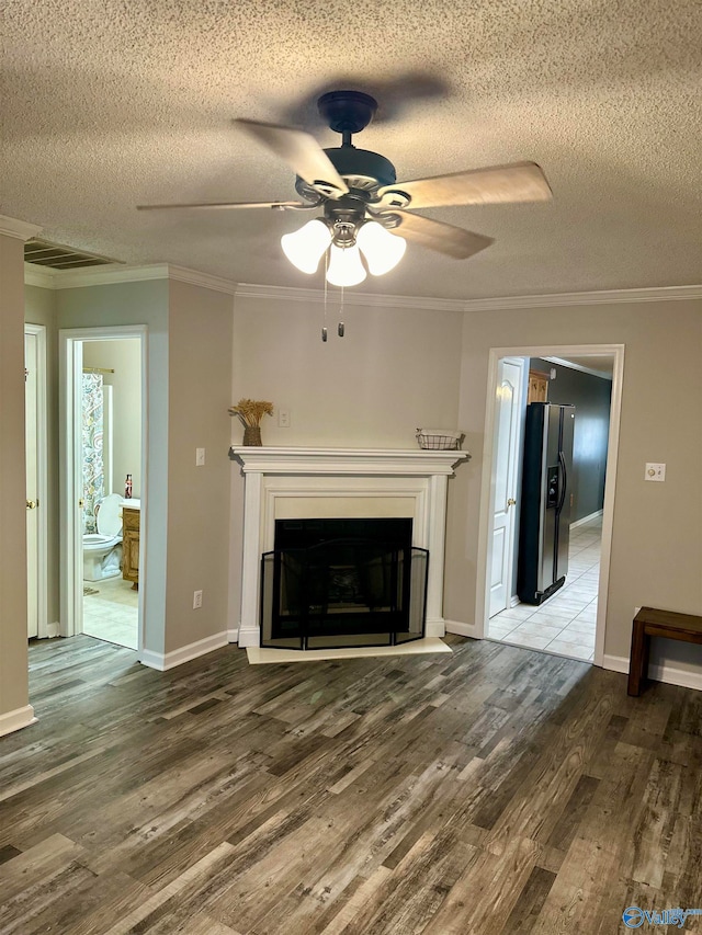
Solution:
{"label": "ceiling fan blade angled toward the upper left", "polygon": [[349,191],[327,153],[310,134],[294,127],[256,121],[237,119],[235,123],[284,159],[308,185],[319,186],[319,191],[331,197],[346,195]]}

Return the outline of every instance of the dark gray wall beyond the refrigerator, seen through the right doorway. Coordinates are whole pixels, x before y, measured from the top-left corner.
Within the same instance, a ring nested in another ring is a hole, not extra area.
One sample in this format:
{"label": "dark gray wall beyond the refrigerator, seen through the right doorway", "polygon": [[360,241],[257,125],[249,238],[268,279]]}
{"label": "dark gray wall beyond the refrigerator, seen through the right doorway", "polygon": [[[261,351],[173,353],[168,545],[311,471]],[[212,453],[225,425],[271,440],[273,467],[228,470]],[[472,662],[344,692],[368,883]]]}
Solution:
{"label": "dark gray wall beyond the refrigerator, seen through the right doorway", "polygon": [[546,374],[555,369],[556,377],[548,384],[548,402],[568,403],[576,408],[570,513],[570,522],[575,523],[597,513],[604,503],[612,383],[541,357],[532,357],[529,366]]}

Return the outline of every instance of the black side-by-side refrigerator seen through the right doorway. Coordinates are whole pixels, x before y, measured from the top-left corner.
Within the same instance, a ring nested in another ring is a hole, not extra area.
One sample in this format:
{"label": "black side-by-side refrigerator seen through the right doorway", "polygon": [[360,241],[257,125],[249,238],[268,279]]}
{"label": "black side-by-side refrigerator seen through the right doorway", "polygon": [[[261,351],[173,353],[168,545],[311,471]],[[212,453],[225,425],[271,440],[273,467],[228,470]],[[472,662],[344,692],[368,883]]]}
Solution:
{"label": "black side-by-side refrigerator seen through the right doorway", "polygon": [[526,407],[517,593],[541,604],[568,573],[575,406]]}

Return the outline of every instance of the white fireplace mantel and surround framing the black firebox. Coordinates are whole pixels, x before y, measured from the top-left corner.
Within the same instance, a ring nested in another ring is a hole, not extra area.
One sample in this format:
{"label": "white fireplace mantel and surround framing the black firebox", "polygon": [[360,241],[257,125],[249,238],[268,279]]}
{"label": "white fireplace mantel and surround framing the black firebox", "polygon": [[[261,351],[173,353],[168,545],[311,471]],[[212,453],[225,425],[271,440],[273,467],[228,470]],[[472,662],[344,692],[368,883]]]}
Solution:
{"label": "white fireplace mantel and surround framing the black firebox", "polygon": [[245,475],[239,646],[260,646],[261,556],[281,520],[407,517],[412,546],[429,551],[427,636],[442,612],[449,477],[467,452],[234,447]]}

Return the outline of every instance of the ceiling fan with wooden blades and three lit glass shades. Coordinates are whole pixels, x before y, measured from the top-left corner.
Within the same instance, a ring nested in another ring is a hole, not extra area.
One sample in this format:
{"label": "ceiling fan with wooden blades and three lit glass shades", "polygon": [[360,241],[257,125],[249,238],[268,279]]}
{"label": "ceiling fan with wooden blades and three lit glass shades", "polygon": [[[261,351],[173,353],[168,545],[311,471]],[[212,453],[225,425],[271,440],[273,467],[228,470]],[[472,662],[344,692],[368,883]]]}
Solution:
{"label": "ceiling fan with wooden blades and three lit glass shades", "polygon": [[552,197],[548,182],[535,162],[397,182],[395,167],[388,159],[367,149],[356,149],[352,144],[352,136],[370,124],[377,110],[377,102],[370,94],[330,91],[319,98],[317,106],[328,126],[341,134],[341,146],[322,149],[310,134],[294,127],[247,119],[235,122],[295,170],[295,189],[301,201],[139,205],[138,209],[322,212],[321,217],[285,235],[283,250],[299,270],[314,273],[329,249],[328,282],[349,286],[365,278],[366,267],[374,275],[393,269],[401,259],[407,240],[458,260],[494,243],[480,233],[414,214],[417,208]]}

